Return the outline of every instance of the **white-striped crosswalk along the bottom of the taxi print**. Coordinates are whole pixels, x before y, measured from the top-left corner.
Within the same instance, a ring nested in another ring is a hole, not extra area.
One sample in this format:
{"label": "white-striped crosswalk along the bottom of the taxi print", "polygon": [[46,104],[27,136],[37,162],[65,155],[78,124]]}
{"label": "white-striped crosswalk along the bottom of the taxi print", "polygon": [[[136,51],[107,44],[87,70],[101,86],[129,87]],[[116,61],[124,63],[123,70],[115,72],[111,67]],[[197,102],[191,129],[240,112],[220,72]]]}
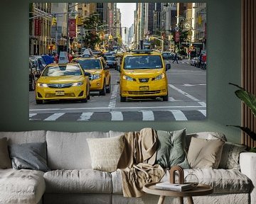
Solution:
{"label": "white-striped crosswalk along the bottom of the taxi print", "polygon": [[82,113],[30,113],[29,120],[45,121],[180,121],[205,120],[206,110],[110,111]]}

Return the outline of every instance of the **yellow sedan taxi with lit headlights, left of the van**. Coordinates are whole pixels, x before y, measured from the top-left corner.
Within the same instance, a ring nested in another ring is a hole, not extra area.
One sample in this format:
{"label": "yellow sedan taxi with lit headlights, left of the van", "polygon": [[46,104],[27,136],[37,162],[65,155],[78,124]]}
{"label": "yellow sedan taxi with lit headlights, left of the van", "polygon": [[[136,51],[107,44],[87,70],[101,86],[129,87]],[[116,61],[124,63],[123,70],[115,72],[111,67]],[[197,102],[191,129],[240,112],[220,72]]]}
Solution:
{"label": "yellow sedan taxi with lit headlights, left of the van", "polygon": [[78,63],[48,64],[36,81],[36,103],[56,99],[90,99],[88,73]]}

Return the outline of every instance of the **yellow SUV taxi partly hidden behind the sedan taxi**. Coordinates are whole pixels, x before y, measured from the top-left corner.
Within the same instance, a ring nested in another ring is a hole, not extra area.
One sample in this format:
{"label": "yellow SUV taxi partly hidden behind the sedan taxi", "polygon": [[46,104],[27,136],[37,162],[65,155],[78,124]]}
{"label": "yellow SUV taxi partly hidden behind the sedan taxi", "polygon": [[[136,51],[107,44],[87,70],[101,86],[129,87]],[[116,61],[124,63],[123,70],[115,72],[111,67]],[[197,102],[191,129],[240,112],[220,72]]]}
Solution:
{"label": "yellow SUV taxi partly hidden behind the sedan taxi", "polygon": [[90,91],[99,91],[101,96],[109,94],[111,91],[110,67],[103,57],[80,57],[73,59],[72,62],[80,64],[85,72],[89,72]]}

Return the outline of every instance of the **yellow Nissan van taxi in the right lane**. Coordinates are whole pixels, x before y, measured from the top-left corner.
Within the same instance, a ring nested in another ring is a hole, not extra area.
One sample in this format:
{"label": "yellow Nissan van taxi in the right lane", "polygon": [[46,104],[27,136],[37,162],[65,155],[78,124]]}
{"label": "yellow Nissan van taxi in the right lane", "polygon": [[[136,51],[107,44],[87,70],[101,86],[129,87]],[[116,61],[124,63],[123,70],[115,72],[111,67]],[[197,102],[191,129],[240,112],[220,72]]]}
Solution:
{"label": "yellow Nissan van taxi in the right lane", "polygon": [[153,50],[126,52],[120,69],[120,101],[127,98],[157,98],[168,101],[168,81],[161,53]]}

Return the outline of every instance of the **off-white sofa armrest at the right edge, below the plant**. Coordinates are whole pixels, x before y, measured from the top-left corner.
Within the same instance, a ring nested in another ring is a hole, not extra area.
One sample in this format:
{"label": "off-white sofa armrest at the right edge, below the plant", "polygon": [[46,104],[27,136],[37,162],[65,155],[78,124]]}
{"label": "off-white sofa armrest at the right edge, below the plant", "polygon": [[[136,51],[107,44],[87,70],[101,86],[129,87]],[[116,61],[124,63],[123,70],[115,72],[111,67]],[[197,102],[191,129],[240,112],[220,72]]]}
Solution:
{"label": "off-white sofa armrest at the right edge, below the plant", "polygon": [[251,202],[256,203],[256,153],[242,152],[240,153],[240,169],[252,181],[252,191],[250,193]]}

